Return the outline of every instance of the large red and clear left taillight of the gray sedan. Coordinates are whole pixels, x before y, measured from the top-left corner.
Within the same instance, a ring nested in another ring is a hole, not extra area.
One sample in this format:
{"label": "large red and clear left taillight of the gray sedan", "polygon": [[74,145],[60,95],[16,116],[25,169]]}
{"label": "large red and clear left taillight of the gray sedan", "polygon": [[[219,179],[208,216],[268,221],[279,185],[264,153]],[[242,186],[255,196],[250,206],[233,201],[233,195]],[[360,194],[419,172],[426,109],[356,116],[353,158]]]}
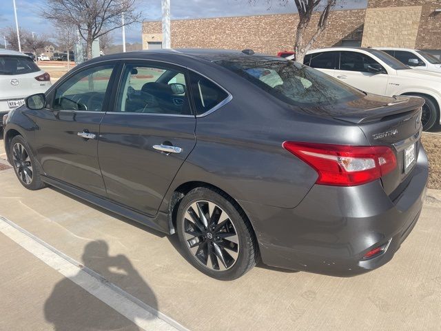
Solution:
{"label": "large red and clear left taillight of the gray sedan", "polygon": [[285,141],[283,148],[318,172],[317,184],[355,186],[375,181],[397,166],[387,146],[345,146]]}

